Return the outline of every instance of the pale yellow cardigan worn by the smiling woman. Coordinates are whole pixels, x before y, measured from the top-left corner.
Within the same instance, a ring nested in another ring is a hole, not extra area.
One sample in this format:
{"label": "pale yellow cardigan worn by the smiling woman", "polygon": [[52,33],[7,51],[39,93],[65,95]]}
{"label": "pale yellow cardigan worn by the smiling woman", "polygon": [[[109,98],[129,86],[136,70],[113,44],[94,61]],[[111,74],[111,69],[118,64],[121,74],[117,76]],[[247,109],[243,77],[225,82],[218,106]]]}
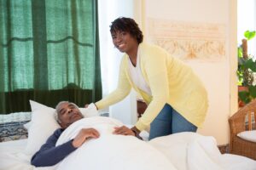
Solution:
{"label": "pale yellow cardigan worn by the smiling woman", "polygon": [[207,114],[207,91],[192,69],[173,58],[163,48],[154,45],[140,43],[138,53],[143,77],[152,96],[137,88],[131,81],[129,56],[125,54],[119,68],[118,87],[96,102],[98,109],[119,102],[134,88],[148,104],[147,110],[136,123],[137,129],[142,131],[148,127],[166,103],[196,127],[201,127]]}

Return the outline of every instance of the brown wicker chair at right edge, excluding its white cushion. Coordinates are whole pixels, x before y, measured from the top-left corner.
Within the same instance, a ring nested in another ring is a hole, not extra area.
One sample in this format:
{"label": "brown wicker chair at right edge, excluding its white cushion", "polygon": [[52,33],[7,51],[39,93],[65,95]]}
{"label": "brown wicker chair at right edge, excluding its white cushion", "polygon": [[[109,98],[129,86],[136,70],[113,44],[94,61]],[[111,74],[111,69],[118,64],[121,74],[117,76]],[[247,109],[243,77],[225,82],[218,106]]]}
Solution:
{"label": "brown wicker chair at right edge, excluding its white cushion", "polygon": [[[252,116],[254,116],[254,123]],[[256,160],[256,143],[241,139],[237,133],[252,130],[255,126],[256,99],[230,117],[230,153]]]}

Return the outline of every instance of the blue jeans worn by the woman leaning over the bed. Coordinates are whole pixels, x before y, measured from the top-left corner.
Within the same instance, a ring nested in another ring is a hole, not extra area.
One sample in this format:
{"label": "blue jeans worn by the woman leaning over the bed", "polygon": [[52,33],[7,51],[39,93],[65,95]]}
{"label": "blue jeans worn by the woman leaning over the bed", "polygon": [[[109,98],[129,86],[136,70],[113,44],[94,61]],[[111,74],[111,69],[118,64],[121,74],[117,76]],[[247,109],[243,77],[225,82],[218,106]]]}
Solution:
{"label": "blue jeans worn by the woman leaning over the bed", "polygon": [[150,124],[149,140],[172,133],[196,132],[197,127],[187,121],[171,105],[166,104]]}

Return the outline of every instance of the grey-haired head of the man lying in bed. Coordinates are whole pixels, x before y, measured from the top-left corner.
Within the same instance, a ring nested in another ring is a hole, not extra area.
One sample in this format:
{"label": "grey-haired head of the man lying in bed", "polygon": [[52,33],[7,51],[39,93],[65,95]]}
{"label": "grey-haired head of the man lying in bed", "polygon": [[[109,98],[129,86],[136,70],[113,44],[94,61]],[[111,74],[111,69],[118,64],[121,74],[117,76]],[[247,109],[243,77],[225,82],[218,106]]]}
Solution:
{"label": "grey-haired head of the man lying in bed", "polygon": [[61,104],[60,109],[57,112],[62,128],[67,128],[73,122],[79,121],[83,118],[79,108],[68,102]]}

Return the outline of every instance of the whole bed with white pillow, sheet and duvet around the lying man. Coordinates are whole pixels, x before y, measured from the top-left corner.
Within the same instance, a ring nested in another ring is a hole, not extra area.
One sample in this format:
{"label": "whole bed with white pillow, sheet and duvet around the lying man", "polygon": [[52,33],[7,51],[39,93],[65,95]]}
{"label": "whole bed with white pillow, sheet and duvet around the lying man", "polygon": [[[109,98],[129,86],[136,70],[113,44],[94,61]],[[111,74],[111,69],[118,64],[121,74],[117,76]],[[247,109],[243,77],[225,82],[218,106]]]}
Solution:
{"label": "whole bed with white pillow, sheet and duvet around the lying man", "polygon": [[132,136],[113,135],[113,127],[122,125],[122,122],[110,117],[96,116],[88,110],[87,117],[68,127],[61,134],[57,144],[72,139],[79,127],[95,127],[101,133],[100,139],[84,143],[79,150],[75,150],[53,167],[33,167],[30,165],[32,154],[44,143],[53,129],[57,128],[57,125],[52,114],[54,109],[33,101],[31,105],[32,121],[26,124],[28,138],[0,143],[0,170],[256,169],[256,161],[252,159],[231,154],[222,155],[216,140],[211,136],[202,136],[199,133],[176,133],[147,141],[148,133],[143,132],[145,139],[143,141]]}

